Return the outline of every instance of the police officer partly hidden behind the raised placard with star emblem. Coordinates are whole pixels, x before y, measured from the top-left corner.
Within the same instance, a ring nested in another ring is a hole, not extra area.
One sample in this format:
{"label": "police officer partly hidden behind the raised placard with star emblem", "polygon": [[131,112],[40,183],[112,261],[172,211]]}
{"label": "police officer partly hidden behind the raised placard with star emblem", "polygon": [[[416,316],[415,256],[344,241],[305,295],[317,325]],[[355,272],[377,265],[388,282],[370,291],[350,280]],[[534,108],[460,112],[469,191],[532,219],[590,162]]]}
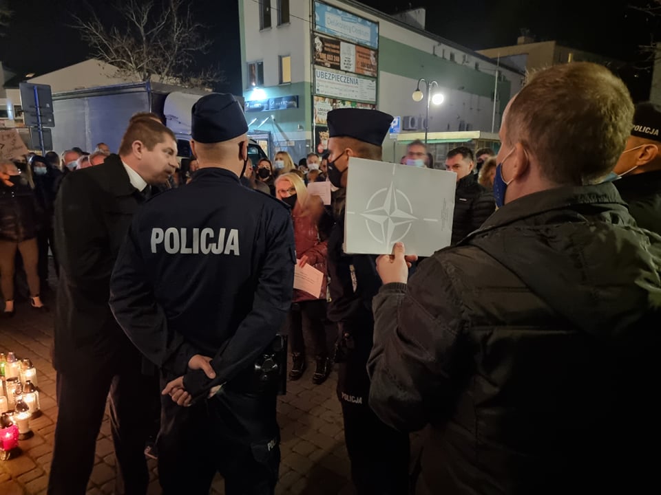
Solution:
{"label": "police officer partly hidden behind the raised placard with star emblem", "polygon": [[333,211],[336,223],[328,239],[330,304],[328,318],[337,322],[339,362],[337,397],[344,416],[344,439],[359,494],[408,493],[408,434],[386,426],[368,405],[366,365],[372,349],[372,298],[381,280],[375,256],[344,254],[344,188],[350,157],[381,159],[381,143],[392,115],[376,110],[328,112],[328,178],[339,188]]}

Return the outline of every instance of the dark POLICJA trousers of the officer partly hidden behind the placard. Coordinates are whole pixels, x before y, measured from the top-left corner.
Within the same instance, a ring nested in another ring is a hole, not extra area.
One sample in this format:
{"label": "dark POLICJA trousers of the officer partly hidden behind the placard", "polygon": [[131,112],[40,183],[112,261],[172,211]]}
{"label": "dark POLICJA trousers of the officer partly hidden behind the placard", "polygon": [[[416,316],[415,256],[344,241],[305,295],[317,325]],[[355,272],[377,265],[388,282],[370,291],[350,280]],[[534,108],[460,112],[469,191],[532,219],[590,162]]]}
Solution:
{"label": "dark POLICJA trousers of the officer partly hidden behind the placard", "polygon": [[339,325],[351,336],[346,360],[339,363],[337,398],[342,404],[353,484],[359,495],[406,495],[410,490],[408,433],[387,426],[368,403],[370,378],[366,367],[373,323],[366,320]]}

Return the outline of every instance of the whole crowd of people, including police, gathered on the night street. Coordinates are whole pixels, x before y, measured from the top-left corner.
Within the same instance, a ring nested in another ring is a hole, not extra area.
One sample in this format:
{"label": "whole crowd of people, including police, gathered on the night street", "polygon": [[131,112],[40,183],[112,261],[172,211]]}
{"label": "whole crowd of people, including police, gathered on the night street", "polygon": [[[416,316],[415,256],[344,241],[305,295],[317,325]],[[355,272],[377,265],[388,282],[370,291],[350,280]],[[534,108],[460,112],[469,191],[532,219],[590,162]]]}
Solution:
{"label": "whole crowd of people, including police, gathered on the night street", "polygon": [[[173,178],[175,136],[149,114],[101,164],[67,151],[0,165],[6,314],[17,252],[39,311],[41,245],[58,261],[48,493],[85,493],[109,397],[125,493],[146,493],[147,445],[165,494],[209,493],[216,472],[229,495],[273,494],[276,396],[304,376],[305,333],[313,383],[337,364],[360,495],[649,491],[661,109],[634,107],[600,65],[530,76],[497,153],[445,157],[452,244],[424,260],[401,243],[344,252],[351,158],[382,159],[392,115],[327,120],[326,155],[253,166],[240,105],[209,94],[192,109],[190,177]],[[401,162],[433,167],[422,142]],[[305,265],[326,274],[319,294],[293,289]]]}

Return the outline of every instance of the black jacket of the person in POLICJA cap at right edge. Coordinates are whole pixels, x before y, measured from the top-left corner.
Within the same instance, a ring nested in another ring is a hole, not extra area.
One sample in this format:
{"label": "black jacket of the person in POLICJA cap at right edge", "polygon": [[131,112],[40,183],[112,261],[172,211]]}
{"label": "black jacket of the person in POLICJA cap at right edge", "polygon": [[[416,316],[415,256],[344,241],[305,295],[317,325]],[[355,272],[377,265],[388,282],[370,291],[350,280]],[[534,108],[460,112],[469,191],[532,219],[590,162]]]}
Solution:
{"label": "black jacket of the person in POLICJA cap at right edge", "polygon": [[613,182],[638,227],[661,234],[661,170],[625,175]]}

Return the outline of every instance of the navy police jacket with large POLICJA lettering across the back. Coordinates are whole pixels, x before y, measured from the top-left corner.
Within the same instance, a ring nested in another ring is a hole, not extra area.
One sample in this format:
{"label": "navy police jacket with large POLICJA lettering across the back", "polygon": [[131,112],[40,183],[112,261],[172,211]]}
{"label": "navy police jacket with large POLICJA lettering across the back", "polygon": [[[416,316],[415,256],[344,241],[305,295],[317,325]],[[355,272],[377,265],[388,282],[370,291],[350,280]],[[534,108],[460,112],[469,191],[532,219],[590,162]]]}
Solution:
{"label": "navy police jacket with large POLICJA lettering across the back", "polygon": [[[280,331],[296,263],[289,207],[203,168],[134,216],[110,305],[135,346],[193,397],[253,368]],[[188,369],[213,358],[216,378]]]}

